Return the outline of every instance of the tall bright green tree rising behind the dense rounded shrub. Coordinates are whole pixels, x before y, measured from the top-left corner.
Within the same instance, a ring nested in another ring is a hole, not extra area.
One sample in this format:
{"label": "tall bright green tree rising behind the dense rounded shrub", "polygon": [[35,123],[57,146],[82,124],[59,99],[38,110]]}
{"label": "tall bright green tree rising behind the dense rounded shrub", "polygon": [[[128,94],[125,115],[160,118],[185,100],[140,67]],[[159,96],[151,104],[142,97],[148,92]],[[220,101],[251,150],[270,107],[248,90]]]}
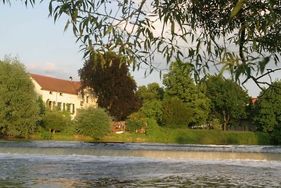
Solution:
{"label": "tall bright green tree rising behind the dense rounded shrub", "polygon": [[165,98],[176,96],[185,106],[192,108],[192,123],[204,124],[209,113],[209,99],[200,85],[195,85],[190,67],[181,62],[170,65],[170,71],[164,75]]}

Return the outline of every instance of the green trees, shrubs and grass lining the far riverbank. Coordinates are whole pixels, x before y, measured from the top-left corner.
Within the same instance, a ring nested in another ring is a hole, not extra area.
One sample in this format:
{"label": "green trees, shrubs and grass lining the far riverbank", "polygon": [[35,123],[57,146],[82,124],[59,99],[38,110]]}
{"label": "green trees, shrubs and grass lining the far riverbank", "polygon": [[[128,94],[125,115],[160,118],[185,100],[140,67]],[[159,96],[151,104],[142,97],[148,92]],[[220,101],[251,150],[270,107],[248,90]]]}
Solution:
{"label": "green trees, shrubs and grass lining the far riverbank", "polygon": [[[259,97],[260,102],[251,104],[247,92],[235,82],[220,75],[209,75],[206,80],[195,84],[188,67],[172,63],[169,73],[164,75],[164,88],[152,83],[134,92],[142,101],[142,107],[122,119],[126,120],[124,134],[115,134],[112,133],[112,120],[117,118],[110,116],[107,108],[82,108],[72,119],[70,113],[58,111],[55,106],[46,108],[41,97],[34,94],[32,81],[18,58],[6,56],[0,66],[2,137],[98,142],[280,144],[279,87],[269,88]],[[19,75],[22,75],[20,82]],[[279,84],[279,81],[275,82],[275,85]],[[243,122],[254,127],[255,131],[228,130],[242,126]]]}

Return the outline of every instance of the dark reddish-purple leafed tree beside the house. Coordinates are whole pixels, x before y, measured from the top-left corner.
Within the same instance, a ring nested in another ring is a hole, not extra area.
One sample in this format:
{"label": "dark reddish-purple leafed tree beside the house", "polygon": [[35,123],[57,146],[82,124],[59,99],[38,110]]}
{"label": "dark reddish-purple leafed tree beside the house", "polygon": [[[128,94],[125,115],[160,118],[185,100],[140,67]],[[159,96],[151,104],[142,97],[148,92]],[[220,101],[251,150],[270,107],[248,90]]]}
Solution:
{"label": "dark reddish-purple leafed tree beside the house", "polygon": [[136,96],[136,82],[129,68],[120,63],[123,57],[114,53],[100,54],[103,58],[91,58],[79,70],[82,88],[91,87],[98,96],[98,106],[107,109],[117,120],[124,120],[141,108]]}

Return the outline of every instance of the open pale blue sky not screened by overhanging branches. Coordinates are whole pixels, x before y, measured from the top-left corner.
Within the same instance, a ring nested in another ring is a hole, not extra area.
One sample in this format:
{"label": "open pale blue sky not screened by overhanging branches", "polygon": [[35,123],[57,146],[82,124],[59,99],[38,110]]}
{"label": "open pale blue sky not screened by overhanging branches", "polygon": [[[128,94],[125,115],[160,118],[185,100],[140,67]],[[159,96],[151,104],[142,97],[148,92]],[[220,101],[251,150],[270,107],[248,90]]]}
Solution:
{"label": "open pale blue sky not screened by overhanging branches", "polygon": [[[77,70],[82,68],[83,53],[72,34],[71,28],[64,32],[66,18],[56,23],[48,18],[48,1],[27,8],[21,1],[11,1],[11,6],[0,4],[0,59],[5,55],[18,56],[30,73],[67,80],[70,76],[79,80]],[[158,61],[162,61],[161,59]],[[163,60],[163,68],[166,68]],[[280,77],[277,73],[273,80]],[[131,72],[138,86],[162,80],[154,71],[145,77],[144,70]],[[268,78],[266,78],[268,79]],[[259,88],[246,84],[250,96],[258,96]]]}

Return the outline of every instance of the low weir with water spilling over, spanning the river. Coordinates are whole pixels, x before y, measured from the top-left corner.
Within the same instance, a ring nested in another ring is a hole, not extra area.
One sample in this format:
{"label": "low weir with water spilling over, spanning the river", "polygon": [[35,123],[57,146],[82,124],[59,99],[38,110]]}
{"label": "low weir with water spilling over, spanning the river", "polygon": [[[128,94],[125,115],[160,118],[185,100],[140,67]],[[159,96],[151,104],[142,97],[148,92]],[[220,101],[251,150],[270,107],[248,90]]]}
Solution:
{"label": "low weir with water spilling over, spanning the river", "polygon": [[1,142],[0,153],[27,155],[127,156],[200,160],[281,161],[280,146],[217,146],[181,144]]}

